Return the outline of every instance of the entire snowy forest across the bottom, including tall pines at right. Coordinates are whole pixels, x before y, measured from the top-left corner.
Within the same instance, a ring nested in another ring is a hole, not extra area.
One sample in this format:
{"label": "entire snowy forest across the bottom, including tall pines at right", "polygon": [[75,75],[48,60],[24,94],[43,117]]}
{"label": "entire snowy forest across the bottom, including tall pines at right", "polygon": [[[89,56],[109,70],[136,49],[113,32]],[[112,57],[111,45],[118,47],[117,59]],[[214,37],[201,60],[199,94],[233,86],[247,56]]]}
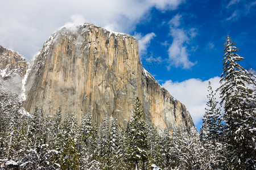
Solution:
{"label": "entire snowy forest across the bottom, including tall pines at right", "polygon": [[[209,82],[207,108],[200,133],[173,125],[159,134],[144,120],[137,97],[126,129],[106,114],[101,126],[85,113],[77,124],[74,113],[61,109],[48,116],[35,108],[28,115],[0,110],[0,163],[3,169],[256,169],[255,73],[230,37],[224,44],[224,67],[218,92]],[[170,135],[171,133],[171,135]]]}

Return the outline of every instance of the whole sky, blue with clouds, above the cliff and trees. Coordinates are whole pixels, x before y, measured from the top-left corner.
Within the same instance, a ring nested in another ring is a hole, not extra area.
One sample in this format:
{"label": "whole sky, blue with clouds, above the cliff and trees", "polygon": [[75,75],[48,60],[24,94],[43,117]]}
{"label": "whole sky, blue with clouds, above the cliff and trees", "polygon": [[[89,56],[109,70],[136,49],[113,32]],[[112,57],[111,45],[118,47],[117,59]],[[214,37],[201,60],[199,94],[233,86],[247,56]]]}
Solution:
{"label": "whole sky, blue with clouds, above the cliff and trees", "polygon": [[186,105],[197,129],[208,80],[219,86],[227,35],[246,58],[241,65],[256,69],[254,0],[3,1],[0,45],[31,59],[57,28],[84,22],[136,37],[145,69]]}

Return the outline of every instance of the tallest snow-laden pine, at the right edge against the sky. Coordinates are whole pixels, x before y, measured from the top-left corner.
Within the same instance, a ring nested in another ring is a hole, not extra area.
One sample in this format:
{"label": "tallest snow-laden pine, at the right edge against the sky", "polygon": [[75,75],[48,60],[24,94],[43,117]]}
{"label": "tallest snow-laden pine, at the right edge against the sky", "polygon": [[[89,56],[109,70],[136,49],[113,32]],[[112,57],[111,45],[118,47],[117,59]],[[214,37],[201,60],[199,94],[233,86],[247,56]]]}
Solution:
{"label": "tallest snow-laden pine, at the right edge against the sky", "polygon": [[226,37],[224,44],[223,73],[221,74],[221,104],[224,106],[226,141],[229,144],[230,165],[237,169],[256,168],[255,151],[255,96],[250,90],[251,79],[247,70],[238,64],[245,59],[237,54],[239,49]]}

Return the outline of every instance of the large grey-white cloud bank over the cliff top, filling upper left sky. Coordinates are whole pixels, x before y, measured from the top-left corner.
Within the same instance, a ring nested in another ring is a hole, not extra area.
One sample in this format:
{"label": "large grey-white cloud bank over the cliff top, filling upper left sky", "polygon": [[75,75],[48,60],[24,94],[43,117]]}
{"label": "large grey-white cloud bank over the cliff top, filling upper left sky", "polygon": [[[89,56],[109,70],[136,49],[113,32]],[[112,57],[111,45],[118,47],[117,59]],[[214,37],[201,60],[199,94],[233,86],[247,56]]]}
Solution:
{"label": "large grey-white cloud bank over the cliff top, filling upper left sky", "polygon": [[[53,31],[65,23],[88,22],[129,33],[144,16],[157,10],[175,10],[180,0],[24,0],[3,1],[0,7],[0,44],[31,58]],[[76,15],[75,15],[76,14]]]}

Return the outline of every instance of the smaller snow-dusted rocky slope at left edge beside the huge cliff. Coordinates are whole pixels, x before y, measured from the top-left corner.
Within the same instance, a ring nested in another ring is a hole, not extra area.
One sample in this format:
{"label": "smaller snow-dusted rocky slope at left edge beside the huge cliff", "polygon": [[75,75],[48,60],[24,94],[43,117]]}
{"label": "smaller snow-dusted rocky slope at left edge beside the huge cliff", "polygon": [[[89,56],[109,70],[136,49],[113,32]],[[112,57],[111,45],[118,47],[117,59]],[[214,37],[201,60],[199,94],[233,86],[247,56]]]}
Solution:
{"label": "smaller snow-dusted rocky slope at left edge beside the huge cliff", "polygon": [[0,45],[0,107],[5,112],[23,112],[20,95],[27,62],[13,50]]}

